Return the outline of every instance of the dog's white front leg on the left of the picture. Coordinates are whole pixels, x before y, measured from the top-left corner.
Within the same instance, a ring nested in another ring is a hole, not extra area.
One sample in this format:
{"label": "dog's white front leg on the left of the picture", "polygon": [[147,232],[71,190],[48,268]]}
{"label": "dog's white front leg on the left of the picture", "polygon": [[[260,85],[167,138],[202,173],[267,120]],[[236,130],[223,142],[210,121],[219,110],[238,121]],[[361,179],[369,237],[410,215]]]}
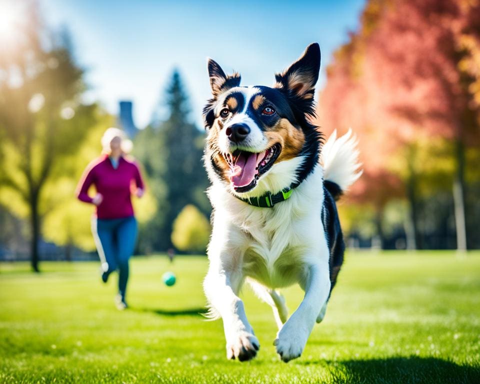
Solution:
{"label": "dog's white front leg on the left of the picture", "polygon": [[255,357],[260,343],[246,319],[243,302],[237,296],[241,282],[239,273],[227,272],[217,262],[210,261],[203,286],[212,309],[223,320],[226,357],[246,361]]}

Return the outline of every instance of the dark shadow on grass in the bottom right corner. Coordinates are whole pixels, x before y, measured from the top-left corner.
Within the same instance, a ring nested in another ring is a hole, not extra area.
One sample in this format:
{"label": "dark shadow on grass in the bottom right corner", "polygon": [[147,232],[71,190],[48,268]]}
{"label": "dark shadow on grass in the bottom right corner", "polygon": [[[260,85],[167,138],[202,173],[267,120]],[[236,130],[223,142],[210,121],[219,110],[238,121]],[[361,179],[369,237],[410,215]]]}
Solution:
{"label": "dark shadow on grass in the bottom right corner", "polygon": [[435,357],[319,361],[318,364],[326,365],[335,383],[480,383],[480,365],[459,365]]}

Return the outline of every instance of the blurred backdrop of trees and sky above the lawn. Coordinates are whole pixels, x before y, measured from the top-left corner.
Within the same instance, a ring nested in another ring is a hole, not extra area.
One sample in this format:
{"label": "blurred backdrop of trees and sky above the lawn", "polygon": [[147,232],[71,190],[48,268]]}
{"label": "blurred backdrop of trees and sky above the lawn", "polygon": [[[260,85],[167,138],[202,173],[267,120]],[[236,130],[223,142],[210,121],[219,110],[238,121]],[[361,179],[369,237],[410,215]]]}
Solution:
{"label": "blurred backdrop of trees and sky above the lawn", "polygon": [[319,41],[319,129],[349,127],[364,173],[339,204],[350,247],[480,247],[478,1],[0,1],[0,258],[95,258],[74,198],[108,126],[147,194],[136,253],[201,253],[206,56],[243,84]]}

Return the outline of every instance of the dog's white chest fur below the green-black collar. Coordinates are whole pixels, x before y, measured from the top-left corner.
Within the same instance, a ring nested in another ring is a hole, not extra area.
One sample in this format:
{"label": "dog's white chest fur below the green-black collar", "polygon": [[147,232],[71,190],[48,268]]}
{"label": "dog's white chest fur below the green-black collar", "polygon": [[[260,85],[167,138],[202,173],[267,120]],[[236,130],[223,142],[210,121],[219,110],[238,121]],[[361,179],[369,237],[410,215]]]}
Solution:
{"label": "dog's white chest fur below the green-black collar", "polygon": [[322,169],[317,166],[285,201],[273,208],[248,205],[213,184],[208,195],[214,207],[209,257],[242,276],[271,288],[303,279],[306,266],[326,249],[321,222]]}

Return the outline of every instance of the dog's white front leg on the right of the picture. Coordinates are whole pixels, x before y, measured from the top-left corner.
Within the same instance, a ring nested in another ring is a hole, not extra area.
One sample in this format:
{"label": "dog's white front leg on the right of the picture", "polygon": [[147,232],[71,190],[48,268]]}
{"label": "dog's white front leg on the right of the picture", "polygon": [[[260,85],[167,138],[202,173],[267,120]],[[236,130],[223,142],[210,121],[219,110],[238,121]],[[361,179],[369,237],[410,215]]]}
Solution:
{"label": "dog's white front leg on the right of the picture", "polygon": [[329,291],[328,265],[311,265],[305,279],[305,296],[278,331],[274,341],[276,352],[283,361],[287,362],[300,356]]}

